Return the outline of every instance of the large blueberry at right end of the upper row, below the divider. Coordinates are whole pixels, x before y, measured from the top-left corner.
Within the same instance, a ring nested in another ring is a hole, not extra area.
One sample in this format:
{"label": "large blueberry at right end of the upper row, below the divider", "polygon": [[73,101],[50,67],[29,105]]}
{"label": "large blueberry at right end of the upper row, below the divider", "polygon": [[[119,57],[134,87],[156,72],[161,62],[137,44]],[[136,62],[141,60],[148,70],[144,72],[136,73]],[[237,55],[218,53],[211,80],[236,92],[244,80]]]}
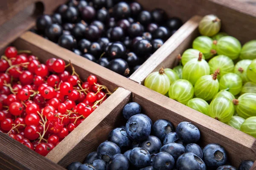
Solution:
{"label": "large blueberry at right end of the upper row, below the divider", "polygon": [[190,122],[180,122],[176,133],[184,143],[196,143],[200,139],[200,131]]}

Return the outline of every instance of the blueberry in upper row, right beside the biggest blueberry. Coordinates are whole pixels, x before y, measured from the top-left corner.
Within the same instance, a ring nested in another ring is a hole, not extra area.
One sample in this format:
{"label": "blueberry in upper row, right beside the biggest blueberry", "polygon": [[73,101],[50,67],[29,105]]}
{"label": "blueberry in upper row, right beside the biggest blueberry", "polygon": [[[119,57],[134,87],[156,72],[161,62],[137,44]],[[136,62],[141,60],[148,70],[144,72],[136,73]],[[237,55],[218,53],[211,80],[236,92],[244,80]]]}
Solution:
{"label": "blueberry in upper row, right beside the biggest blueberry", "polygon": [[157,136],[161,141],[164,137],[174,131],[174,126],[169,120],[158,119],[152,127],[152,135]]}

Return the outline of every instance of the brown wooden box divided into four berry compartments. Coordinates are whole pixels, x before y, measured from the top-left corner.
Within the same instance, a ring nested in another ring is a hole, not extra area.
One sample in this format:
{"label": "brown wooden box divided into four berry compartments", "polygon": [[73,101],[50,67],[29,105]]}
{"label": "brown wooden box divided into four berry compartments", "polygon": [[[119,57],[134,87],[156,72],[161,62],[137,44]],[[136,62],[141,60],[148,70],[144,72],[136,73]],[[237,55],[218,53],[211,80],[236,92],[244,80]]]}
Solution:
{"label": "brown wooden box divided into four berry compartments", "polygon": [[[65,0],[58,0],[58,3],[61,4],[63,1]],[[166,68],[175,66],[177,54],[182,54],[183,51],[191,47],[192,41],[198,36],[197,27],[201,20],[200,16],[192,17],[192,15],[217,14],[222,19],[223,31],[244,43],[256,39],[256,30],[252,29],[256,27],[254,8],[243,3],[233,2],[233,0],[138,1],[148,10],[153,7],[163,8],[169,16],[181,17],[187,22],[134,72],[130,79],[84,59],[72,51],[61,48],[32,32],[23,33],[35,25],[35,17],[29,20],[29,26],[24,27],[21,24],[19,25],[20,29],[10,30],[12,33],[8,34],[10,39],[3,40],[1,37],[0,49],[12,42],[12,45],[18,49],[32,51],[44,62],[51,57],[62,58],[65,61],[70,59],[82,79],[94,74],[98,77],[99,82],[106,85],[111,91],[116,88],[117,90],[46,157],[40,156],[23,144],[0,133],[0,169],[60,170],[72,161],[83,161],[88,153],[95,151],[101,142],[107,140],[108,133],[113,128],[125,125],[122,108],[131,101],[138,102],[142,106],[143,113],[148,115],[153,122],[157,119],[168,119],[175,126],[182,121],[192,122],[201,131],[202,145],[214,142],[221,144],[226,148],[230,162],[236,167],[242,160],[256,160],[256,139],[252,136],[141,85],[145,77],[152,71],[156,71],[162,66]],[[28,4],[34,2],[35,0],[30,0]],[[236,22],[234,22],[235,20]],[[0,30],[2,26],[0,26]],[[13,41],[14,39],[16,40]]]}

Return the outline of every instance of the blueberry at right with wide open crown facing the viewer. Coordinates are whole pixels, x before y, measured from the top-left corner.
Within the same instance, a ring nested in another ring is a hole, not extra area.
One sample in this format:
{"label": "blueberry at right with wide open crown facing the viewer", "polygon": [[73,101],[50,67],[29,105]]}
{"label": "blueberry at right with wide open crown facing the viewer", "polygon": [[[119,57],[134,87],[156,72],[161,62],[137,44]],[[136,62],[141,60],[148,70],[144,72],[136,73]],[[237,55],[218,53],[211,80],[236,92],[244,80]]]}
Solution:
{"label": "blueberry at right with wide open crown facing the viewer", "polygon": [[207,144],[203,149],[203,155],[207,167],[217,168],[227,161],[226,150],[219,144]]}

